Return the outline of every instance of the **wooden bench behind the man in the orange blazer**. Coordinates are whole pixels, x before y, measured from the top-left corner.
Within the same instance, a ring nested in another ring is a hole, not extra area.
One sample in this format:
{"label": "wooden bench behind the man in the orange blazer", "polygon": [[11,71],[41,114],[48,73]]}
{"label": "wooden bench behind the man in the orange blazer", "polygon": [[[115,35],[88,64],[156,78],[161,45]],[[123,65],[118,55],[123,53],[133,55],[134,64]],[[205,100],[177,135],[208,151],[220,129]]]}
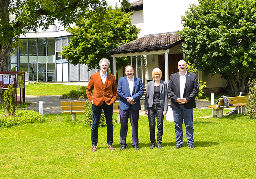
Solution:
{"label": "wooden bench behind the man in the orange blazer", "polygon": [[[61,109],[68,110],[63,111],[63,114],[71,114],[72,121],[76,121],[77,113],[84,113],[84,105],[89,101],[61,101]],[[113,104],[113,113],[117,113],[117,121],[120,122],[120,112],[118,109],[119,101],[114,102]]]}

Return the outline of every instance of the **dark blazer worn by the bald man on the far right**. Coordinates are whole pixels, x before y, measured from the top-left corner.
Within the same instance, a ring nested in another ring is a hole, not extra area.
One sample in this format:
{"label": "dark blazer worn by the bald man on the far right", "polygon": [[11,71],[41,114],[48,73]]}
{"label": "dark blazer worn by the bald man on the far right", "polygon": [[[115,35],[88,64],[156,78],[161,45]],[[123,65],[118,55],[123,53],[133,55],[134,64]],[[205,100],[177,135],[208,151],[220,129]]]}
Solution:
{"label": "dark blazer worn by the bald man on the far right", "polygon": [[[187,71],[186,84],[184,89],[183,98],[186,98],[188,103],[182,104],[185,109],[196,107],[196,96],[199,92],[199,83],[196,74]],[[176,102],[180,97],[180,74],[179,72],[171,74],[168,83],[168,93],[171,98],[171,107],[180,109],[180,104]]]}

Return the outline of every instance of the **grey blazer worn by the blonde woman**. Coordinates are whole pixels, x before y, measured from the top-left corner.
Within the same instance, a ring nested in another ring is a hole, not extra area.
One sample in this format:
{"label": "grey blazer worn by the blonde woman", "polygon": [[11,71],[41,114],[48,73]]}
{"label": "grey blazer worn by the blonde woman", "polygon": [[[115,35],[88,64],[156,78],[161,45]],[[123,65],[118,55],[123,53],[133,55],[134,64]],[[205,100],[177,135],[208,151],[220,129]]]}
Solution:
{"label": "grey blazer worn by the blonde woman", "polygon": [[[166,82],[160,80],[160,105],[164,108],[164,111],[168,109],[168,91]],[[145,97],[145,111],[148,110],[148,107],[152,107],[154,101],[154,80],[148,82],[146,89],[146,97]]]}

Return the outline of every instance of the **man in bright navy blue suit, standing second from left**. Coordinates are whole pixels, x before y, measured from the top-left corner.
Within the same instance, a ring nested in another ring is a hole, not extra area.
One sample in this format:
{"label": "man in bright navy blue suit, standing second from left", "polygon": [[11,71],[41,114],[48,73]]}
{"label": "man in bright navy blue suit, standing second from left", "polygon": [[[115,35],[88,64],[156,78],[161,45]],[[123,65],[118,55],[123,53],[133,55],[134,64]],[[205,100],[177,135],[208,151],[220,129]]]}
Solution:
{"label": "man in bright navy blue suit, standing second from left", "polygon": [[133,76],[134,69],[128,65],[125,67],[125,77],[118,81],[117,94],[120,96],[119,109],[120,109],[120,150],[124,150],[127,146],[126,136],[128,131],[128,118],[132,125],[132,146],[135,150],[138,147],[138,121],[140,110],[140,97],[144,93],[142,80]]}

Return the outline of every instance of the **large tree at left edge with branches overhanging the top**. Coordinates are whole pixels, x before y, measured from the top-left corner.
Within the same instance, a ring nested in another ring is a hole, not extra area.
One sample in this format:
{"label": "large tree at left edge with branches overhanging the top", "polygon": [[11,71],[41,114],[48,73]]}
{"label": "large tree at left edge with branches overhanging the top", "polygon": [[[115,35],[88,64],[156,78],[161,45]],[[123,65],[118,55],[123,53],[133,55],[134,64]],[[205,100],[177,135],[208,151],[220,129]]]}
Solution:
{"label": "large tree at left edge with branches overhanging the top", "polygon": [[[130,5],[128,0],[122,0],[122,4]],[[82,16],[90,16],[94,8],[99,10],[96,18],[100,18],[100,8],[106,5],[106,0],[0,0],[0,71],[8,71],[10,52],[19,44],[20,34],[37,32],[39,27],[46,30],[54,20],[66,27]]]}

